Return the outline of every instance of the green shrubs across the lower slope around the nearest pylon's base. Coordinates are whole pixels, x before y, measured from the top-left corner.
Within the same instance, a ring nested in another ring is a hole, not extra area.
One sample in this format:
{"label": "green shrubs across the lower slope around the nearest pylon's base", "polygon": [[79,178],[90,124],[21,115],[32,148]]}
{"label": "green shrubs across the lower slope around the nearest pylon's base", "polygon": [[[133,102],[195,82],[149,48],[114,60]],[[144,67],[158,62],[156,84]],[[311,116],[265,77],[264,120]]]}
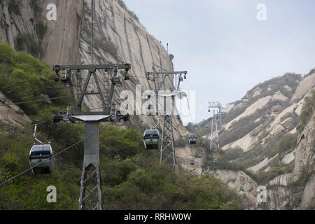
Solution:
{"label": "green shrubs across the lower slope around the nearest pylon's base", "polygon": [[[41,125],[38,138],[51,138],[56,152],[83,137],[82,124],[51,125]],[[18,139],[0,141],[1,182],[29,167],[28,153],[33,141],[31,130]],[[241,209],[239,197],[220,180],[210,176],[197,178],[186,172],[172,174],[169,167],[159,165],[154,153],[144,151],[140,135],[134,130],[109,126],[101,131],[104,209]],[[53,174],[34,176],[29,172],[20,176],[1,188],[0,209],[77,209],[82,161],[80,144],[57,157]],[[55,204],[45,200],[46,188],[51,185],[57,188]]]}

